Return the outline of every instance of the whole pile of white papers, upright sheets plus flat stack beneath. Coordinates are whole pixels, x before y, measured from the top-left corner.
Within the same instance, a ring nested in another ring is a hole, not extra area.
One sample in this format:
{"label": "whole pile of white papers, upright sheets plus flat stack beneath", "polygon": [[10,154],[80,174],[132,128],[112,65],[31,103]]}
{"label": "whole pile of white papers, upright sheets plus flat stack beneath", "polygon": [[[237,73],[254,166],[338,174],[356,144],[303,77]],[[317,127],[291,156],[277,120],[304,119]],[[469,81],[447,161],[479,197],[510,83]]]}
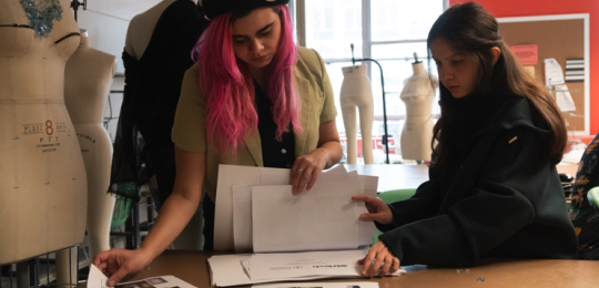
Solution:
{"label": "whole pile of white papers, upright sheets plus flat stack beneath", "polygon": [[294,196],[288,177],[290,169],[220,166],[214,249],[271,254],[211,257],[213,286],[362,277],[361,247],[377,229],[359,220],[367,210],[352,196],[376,196],[378,178],[339,165]]}

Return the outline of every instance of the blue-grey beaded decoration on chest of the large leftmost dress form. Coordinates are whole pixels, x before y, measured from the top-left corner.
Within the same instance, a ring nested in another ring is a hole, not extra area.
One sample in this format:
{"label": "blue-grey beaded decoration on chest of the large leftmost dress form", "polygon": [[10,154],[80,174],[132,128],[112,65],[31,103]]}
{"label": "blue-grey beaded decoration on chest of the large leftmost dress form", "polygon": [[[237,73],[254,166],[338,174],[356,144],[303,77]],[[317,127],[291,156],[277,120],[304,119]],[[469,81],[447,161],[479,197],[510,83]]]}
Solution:
{"label": "blue-grey beaded decoration on chest of the large leftmost dress form", "polygon": [[48,38],[54,19],[62,19],[62,7],[59,0],[21,0],[21,6],[29,19],[30,28],[38,37]]}

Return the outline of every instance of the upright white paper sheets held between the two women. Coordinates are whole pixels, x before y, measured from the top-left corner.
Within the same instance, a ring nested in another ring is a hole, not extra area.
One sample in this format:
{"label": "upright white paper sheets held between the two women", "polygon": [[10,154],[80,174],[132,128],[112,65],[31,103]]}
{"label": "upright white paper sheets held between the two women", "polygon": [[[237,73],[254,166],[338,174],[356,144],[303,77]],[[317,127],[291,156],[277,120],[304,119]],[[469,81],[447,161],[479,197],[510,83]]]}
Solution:
{"label": "upright white paper sheets held between the two women", "polygon": [[292,195],[290,169],[221,165],[214,249],[236,253],[357,249],[376,234],[352,196],[376,196],[378,178],[323,172],[309,192]]}

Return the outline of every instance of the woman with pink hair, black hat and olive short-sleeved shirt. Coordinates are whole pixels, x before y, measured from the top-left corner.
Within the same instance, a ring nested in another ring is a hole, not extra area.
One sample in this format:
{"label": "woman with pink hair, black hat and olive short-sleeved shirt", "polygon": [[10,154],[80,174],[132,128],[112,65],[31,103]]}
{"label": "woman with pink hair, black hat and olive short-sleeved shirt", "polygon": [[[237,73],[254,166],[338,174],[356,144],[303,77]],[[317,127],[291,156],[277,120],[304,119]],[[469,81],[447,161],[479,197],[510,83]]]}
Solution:
{"label": "woman with pink hair, black hat and olive short-sleeved shirt", "polygon": [[202,198],[204,249],[212,249],[220,164],[291,168],[296,195],[341,160],[324,62],[293,42],[287,2],[203,0],[212,22],[194,48],[197,63],[183,79],[172,130],[174,189],[139,249],[94,258],[110,276],[109,286],[161,254]]}

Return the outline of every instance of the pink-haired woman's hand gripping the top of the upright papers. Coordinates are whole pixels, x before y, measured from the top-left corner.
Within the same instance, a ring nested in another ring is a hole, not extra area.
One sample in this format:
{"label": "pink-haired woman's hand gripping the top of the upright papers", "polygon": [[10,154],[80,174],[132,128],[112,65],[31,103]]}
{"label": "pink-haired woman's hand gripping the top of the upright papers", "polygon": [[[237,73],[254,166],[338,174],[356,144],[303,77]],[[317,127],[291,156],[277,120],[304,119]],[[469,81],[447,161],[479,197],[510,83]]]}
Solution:
{"label": "pink-haired woman's hand gripping the top of the upright papers", "polygon": [[293,195],[312,189],[314,183],[326,165],[327,154],[324,148],[316,148],[312,153],[300,156],[293,163],[290,184],[293,185]]}

